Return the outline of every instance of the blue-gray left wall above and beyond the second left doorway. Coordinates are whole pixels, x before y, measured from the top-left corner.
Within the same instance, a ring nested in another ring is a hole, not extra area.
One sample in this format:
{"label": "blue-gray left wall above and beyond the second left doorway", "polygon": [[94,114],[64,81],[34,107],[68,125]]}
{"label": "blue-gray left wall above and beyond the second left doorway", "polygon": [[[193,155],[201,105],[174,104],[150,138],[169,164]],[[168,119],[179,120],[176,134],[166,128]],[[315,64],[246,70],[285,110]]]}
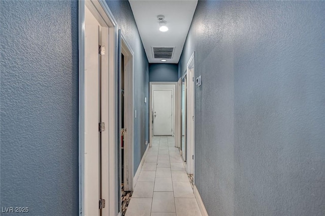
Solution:
{"label": "blue-gray left wall above and beyond the second left doorway", "polygon": [[136,173],[147,147],[145,142],[149,137],[147,133],[149,106],[148,103],[144,103],[144,98],[149,97],[148,59],[128,1],[106,1],[106,3],[126,42],[134,52],[134,109],[137,110],[137,118],[134,119],[134,173]]}

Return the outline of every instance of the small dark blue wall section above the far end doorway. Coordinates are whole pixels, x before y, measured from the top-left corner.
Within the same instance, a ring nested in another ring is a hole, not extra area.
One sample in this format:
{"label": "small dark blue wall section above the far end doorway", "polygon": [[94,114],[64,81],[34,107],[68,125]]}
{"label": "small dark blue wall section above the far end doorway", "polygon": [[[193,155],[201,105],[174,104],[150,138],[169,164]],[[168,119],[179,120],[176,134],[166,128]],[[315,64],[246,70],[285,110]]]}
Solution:
{"label": "small dark blue wall section above the far end doorway", "polygon": [[178,64],[149,64],[149,82],[177,82]]}

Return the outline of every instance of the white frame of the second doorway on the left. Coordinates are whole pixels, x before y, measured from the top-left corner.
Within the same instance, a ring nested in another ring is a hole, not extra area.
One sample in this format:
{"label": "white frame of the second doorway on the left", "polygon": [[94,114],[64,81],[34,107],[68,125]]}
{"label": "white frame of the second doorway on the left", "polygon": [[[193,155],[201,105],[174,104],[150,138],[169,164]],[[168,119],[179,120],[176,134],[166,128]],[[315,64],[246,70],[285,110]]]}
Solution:
{"label": "white frame of the second doorway on the left", "polygon": [[[124,55],[124,113],[126,139],[124,142],[124,191],[133,191],[134,173],[134,52],[121,33],[121,53]],[[120,113],[121,118],[121,113]],[[125,157],[126,156],[126,157]],[[127,165],[127,166],[125,166]],[[126,182],[126,184],[125,184]]]}

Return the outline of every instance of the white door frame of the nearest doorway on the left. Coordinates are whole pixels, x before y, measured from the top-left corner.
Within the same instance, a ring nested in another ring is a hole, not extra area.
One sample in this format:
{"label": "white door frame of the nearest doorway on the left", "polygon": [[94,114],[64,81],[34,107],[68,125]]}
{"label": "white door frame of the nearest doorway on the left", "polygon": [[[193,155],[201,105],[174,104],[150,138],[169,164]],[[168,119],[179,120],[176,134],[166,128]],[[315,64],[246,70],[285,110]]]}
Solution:
{"label": "white door frame of the nearest doorway on the left", "polygon": [[[102,121],[105,122],[106,131],[102,133],[102,181],[108,182],[102,187],[102,198],[106,200],[103,215],[117,215],[118,209],[116,184],[117,169],[114,167],[117,160],[116,143],[118,137],[117,96],[118,86],[117,68],[117,24],[110,9],[104,0],[79,1],[78,28],[79,28],[79,215],[85,215],[85,7],[91,6],[91,13],[98,21],[105,22],[109,29],[109,40],[106,53],[109,55],[109,66],[106,73],[107,100],[104,102],[107,109],[102,112]],[[89,7],[88,7],[89,8]],[[106,108],[106,107],[105,107]],[[104,118],[104,119],[103,119]]]}

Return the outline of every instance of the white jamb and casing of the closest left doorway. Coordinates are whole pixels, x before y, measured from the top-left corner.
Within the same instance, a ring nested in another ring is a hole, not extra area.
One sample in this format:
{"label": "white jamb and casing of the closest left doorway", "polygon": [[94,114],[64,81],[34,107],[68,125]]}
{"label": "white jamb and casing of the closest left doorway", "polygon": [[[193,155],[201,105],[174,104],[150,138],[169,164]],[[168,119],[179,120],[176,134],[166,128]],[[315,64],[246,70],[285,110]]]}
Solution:
{"label": "white jamb and casing of the closest left doorway", "polygon": [[[87,2],[87,3],[86,3]],[[109,55],[109,107],[116,107],[116,98],[114,94],[115,86],[117,86],[115,77],[115,72],[117,71],[116,66],[116,21],[113,17],[112,12],[108,8],[106,2],[104,0],[91,0],[91,1],[79,1],[78,4],[78,36],[79,36],[79,215],[83,216],[85,214],[85,160],[84,160],[84,150],[85,150],[85,7],[86,4],[93,4],[96,9],[93,12],[93,15],[96,17],[101,17],[105,20],[107,25],[109,26],[109,43],[110,46],[107,49],[107,53]],[[107,133],[109,133],[109,140],[106,143],[107,148],[109,149],[106,152],[106,155],[102,157],[106,160],[109,160],[109,164],[107,166],[103,166],[102,168],[106,173],[103,173],[103,182],[107,181],[107,191],[103,191],[103,197],[106,199],[107,207],[103,214],[113,216],[116,212],[116,192],[115,192],[115,184],[116,184],[116,168],[114,167],[114,161],[116,156],[116,130],[117,130],[117,122],[116,122],[116,110],[109,111],[108,113],[109,121],[106,124]],[[112,163],[113,162],[113,163]],[[104,164],[103,164],[104,165]]]}

